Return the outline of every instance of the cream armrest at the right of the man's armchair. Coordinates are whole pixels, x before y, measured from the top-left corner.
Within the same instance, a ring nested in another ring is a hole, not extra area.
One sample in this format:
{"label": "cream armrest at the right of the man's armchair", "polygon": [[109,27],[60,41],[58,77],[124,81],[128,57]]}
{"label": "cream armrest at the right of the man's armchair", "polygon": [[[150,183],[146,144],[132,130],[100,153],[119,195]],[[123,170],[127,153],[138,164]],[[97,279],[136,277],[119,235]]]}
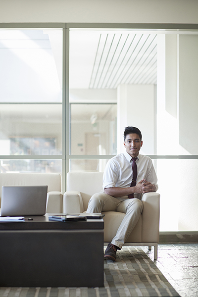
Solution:
{"label": "cream armrest at the right of the man's armchair", "polygon": [[142,242],[159,242],[159,198],[158,193],[145,193],[142,196]]}

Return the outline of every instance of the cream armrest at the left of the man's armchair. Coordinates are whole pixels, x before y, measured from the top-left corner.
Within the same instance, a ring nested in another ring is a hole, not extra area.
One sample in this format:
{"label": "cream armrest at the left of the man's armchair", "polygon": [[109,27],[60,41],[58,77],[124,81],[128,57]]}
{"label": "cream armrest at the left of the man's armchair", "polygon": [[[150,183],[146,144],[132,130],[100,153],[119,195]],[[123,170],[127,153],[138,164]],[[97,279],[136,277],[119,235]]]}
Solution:
{"label": "cream armrest at the left of the man's armchair", "polygon": [[83,199],[79,191],[67,191],[63,195],[64,213],[82,213],[84,211]]}

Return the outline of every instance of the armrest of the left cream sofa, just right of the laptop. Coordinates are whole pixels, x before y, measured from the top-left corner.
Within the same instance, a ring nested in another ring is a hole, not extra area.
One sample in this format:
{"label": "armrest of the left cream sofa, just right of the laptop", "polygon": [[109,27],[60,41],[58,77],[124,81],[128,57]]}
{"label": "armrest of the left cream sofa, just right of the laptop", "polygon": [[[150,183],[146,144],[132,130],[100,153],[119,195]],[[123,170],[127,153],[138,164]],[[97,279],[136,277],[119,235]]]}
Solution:
{"label": "armrest of the left cream sofa, just right of the laptop", "polygon": [[59,191],[48,192],[46,212],[62,212],[62,193]]}

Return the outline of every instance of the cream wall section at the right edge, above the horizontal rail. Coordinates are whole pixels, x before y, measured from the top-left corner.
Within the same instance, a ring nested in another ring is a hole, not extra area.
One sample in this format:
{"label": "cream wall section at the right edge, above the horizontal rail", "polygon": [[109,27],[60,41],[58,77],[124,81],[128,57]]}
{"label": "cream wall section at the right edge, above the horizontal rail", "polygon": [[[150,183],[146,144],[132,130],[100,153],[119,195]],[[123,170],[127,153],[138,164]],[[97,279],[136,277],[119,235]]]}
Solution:
{"label": "cream wall section at the right edge, above the horizontal rail", "polygon": [[198,36],[179,36],[179,143],[198,154]]}

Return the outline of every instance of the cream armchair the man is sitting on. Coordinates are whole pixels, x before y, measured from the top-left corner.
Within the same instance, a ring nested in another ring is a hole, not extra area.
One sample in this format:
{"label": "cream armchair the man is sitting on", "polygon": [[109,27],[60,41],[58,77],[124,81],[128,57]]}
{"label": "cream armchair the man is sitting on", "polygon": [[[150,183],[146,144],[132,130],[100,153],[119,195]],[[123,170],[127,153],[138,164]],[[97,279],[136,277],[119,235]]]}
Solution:
{"label": "cream armchair the man is sitting on", "polygon": [[[67,174],[67,192],[63,195],[64,213],[82,213],[88,207],[91,196],[102,190],[102,172],[69,172]],[[158,193],[142,196],[143,212],[134,230],[128,237],[127,246],[154,247],[154,259],[157,259],[159,241],[159,198]],[[116,211],[103,212],[104,243],[111,242],[125,213]]]}

